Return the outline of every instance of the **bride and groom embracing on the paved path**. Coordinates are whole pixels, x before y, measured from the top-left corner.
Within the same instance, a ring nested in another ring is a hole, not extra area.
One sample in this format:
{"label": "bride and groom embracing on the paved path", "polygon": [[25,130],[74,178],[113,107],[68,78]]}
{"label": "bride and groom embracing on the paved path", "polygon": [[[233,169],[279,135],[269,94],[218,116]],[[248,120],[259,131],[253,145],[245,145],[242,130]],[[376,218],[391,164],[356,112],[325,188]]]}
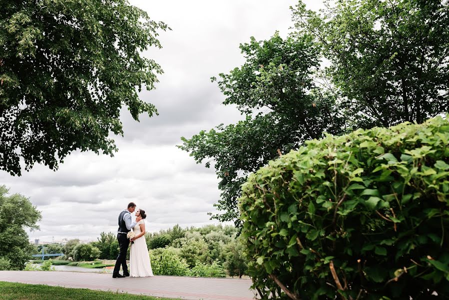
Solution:
{"label": "bride and groom embracing on the paved path", "polygon": [[[120,252],[115,262],[114,271],[112,272],[112,278],[123,278],[127,276],[131,277],[148,277],[153,276],[151,269],[150,254],[148,253],[148,247],[145,240],[145,210],[137,209],[135,216],[135,222],[131,222],[131,213],[136,209],[136,204],[130,202],[128,208],[121,211],[118,215],[118,232],[117,239],[120,247]],[[135,236],[128,239],[128,232],[134,232]],[[131,243],[132,242],[132,243]],[[128,252],[128,246],[131,243],[131,249],[129,250],[129,272],[126,264],[126,254]],[[120,274],[120,265],[123,269],[123,274]]]}

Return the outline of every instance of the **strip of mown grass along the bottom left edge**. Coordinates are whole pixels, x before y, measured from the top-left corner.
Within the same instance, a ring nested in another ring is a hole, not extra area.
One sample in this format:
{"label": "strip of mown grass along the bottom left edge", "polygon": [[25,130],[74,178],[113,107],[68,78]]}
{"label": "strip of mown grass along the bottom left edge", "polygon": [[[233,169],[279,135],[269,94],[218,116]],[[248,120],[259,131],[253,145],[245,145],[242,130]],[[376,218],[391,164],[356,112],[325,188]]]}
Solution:
{"label": "strip of mown grass along the bottom left edge", "polygon": [[132,295],[110,291],[91,290],[86,288],[67,288],[40,284],[23,284],[0,281],[1,300],[155,300],[159,298],[143,295]]}

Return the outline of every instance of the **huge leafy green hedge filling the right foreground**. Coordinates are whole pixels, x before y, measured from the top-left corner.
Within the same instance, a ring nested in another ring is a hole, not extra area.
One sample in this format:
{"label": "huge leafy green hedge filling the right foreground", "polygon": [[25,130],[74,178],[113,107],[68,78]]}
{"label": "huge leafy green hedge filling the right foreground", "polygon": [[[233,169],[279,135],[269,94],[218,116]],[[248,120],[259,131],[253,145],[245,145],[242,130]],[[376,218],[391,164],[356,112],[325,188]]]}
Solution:
{"label": "huge leafy green hedge filling the right foreground", "polygon": [[252,174],[242,237],[261,296],[449,297],[448,116],[311,140]]}

